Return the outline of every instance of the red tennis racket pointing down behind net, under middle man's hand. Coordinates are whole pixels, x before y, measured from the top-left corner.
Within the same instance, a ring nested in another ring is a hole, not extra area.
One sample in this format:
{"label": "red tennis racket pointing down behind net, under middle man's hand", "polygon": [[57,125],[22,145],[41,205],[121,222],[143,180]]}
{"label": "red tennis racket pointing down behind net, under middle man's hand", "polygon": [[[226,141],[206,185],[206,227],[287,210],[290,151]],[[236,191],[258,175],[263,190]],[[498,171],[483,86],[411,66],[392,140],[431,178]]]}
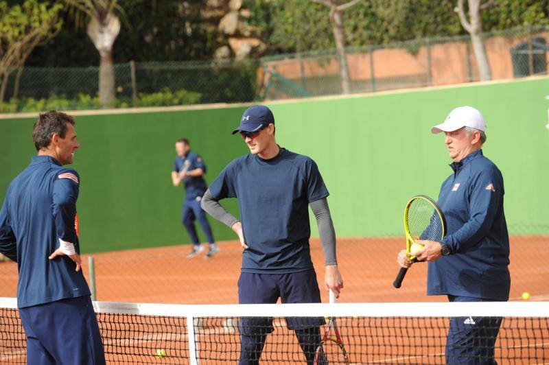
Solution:
{"label": "red tennis racket pointing down behind net, under middle man's hand", "polygon": [[[331,290],[330,303],[336,303],[336,294]],[[331,333],[331,331],[334,333]],[[320,345],[316,348],[314,354],[314,365],[325,364],[350,364],[349,355],[347,355],[347,351],[343,346],[338,324],[334,317],[329,319],[328,327],[326,327],[322,341],[320,341]]]}

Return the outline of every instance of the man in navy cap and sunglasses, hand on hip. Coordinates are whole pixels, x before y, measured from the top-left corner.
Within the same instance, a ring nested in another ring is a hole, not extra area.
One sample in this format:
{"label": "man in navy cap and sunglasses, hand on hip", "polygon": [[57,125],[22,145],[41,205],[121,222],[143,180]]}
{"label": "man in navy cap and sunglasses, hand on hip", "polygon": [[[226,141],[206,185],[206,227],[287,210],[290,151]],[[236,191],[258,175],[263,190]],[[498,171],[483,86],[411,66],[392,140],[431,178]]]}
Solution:
{"label": "man in navy cap and sunglasses, hand on hip", "polygon": [[[318,224],[325,256],[326,290],[339,296],[343,280],[336,260],[336,233],[329,213],[328,190],[314,161],[279,147],[274,116],[255,105],[242,115],[233,134],[240,135],[250,154],[235,159],[213,181],[202,207],[231,227],[243,248],[238,280],[241,304],[320,303],[320,291],[309,250],[310,205]],[[240,217],[226,211],[219,200],[237,198]],[[288,318],[307,364],[314,362],[324,318]],[[240,320],[240,364],[258,364],[272,320]]]}

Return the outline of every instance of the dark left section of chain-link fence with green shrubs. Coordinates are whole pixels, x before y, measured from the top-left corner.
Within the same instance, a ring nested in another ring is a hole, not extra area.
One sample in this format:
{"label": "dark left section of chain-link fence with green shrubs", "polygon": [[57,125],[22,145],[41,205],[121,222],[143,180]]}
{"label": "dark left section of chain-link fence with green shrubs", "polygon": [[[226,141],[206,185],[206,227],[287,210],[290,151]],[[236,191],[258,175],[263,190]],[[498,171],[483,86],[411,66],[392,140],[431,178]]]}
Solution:
{"label": "dark left section of chain-link fence with green shrubs", "polygon": [[[257,95],[258,60],[114,64],[115,107],[249,102]],[[0,111],[101,108],[99,67],[14,70]],[[1,103],[0,103],[1,104]]]}

